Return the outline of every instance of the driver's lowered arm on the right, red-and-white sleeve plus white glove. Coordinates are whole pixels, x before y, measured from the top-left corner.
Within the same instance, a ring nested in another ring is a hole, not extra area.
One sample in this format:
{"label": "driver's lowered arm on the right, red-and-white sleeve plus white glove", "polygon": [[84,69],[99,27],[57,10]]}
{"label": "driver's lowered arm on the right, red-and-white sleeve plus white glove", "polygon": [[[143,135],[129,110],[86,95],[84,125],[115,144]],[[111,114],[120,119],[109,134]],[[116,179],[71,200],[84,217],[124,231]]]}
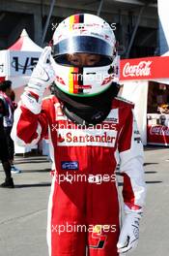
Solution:
{"label": "driver's lowered arm on the right, red-and-white sleeve plus white glove", "polygon": [[128,111],[119,139],[120,172],[124,176],[123,198],[125,220],[117,244],[119,253],[136,247],[139,238],[139,220],[145,202],[146,186],[143,169],[143,145],[134,118]]}

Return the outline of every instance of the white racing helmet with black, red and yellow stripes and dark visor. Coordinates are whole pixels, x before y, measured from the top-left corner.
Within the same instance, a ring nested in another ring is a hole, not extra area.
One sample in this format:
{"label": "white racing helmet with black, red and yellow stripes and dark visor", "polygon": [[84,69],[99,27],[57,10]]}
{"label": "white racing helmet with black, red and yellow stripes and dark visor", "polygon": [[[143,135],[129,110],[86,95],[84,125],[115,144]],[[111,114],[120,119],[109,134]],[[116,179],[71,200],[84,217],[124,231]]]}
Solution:
{"label": "white racing helmet with black, red and yellow stripes and dark visor", "polygon": [[[99,54],[100,61],[95,66],[73,66],[67,59],[72,53]],[[63,20],[53,35],[53,57],[57,87],[73,96],[98,95],[119,77],[116,39],[99,16],[80,14]]]}

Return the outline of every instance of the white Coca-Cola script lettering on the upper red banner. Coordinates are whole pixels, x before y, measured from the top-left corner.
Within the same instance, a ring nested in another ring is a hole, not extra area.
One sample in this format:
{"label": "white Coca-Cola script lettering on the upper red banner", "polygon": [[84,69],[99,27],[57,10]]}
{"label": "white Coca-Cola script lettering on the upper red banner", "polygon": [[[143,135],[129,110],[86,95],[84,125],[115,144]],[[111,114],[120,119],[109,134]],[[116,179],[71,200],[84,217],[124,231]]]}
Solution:
{"label": "white Coca-Cola script lettering on the upper red banner", "polygon": [[127,77],[147,77],[151,75],[152,61],[140,61],[137,65],[130,65],[129,62],[124,66],[123,76]]}

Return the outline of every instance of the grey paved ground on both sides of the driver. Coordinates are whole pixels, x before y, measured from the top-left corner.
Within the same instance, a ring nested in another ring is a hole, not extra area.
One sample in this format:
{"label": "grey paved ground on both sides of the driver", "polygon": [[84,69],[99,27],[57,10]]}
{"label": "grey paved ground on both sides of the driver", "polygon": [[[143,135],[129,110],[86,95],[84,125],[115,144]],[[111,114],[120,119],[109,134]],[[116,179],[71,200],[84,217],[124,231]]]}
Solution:
{"label": "grey paved ground on both sides of the driver", "polygon": [[[169,255],[167,158],[168,148],[145,150],[147,206],[139,246],[128,255]],[[47,256],[45,229],[50,164],[44,156],[15,159],[16,166],[23,171],[14,175],[15,189],[0,189],[0,256]],[[3,181],[3,178],[0,166],[0,180]]]}

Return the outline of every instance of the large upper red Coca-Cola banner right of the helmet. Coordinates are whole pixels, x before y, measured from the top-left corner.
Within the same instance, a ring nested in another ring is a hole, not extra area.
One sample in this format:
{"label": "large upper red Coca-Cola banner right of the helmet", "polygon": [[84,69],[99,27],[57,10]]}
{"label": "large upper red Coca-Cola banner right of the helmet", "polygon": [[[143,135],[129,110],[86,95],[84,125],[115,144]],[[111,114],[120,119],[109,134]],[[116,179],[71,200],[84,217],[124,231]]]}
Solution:
{"label": "large upper red Coca-Cola banner right of the helmet", "polygon": [[120,80],[155,79],[169,79],[169,56],[120,61]]}

